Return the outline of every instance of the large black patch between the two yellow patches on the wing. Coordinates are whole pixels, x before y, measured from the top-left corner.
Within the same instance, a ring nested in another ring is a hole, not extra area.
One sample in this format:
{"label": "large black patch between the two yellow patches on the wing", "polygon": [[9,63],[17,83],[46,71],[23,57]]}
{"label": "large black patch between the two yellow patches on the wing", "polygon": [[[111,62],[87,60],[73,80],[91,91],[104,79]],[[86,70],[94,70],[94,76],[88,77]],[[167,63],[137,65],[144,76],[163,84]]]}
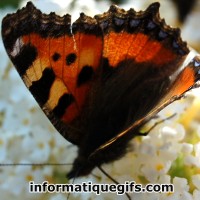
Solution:
{"label": "large black patch between the two yellow patches on the wing", "polygon": [[29,87],[29,90],[41,106],[47,102],[54,80],[54,71],[51,68],[46,68],[42,73],[42,77],[38,81],[33,81]]}

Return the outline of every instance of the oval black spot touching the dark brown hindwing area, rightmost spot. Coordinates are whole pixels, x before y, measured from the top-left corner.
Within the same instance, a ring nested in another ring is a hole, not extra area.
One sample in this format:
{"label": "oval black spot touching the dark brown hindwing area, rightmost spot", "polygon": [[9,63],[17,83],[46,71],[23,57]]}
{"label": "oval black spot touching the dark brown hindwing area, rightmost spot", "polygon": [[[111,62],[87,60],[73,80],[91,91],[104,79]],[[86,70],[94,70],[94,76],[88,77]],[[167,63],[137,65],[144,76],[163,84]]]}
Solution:
{"label": "oval black spot touching the dark brown hindwing area, rightmost spot", "polygon": [[79,87],[87,81],[91,80],[93,74],[94,71],[91,66],[84,66],[78,75],[77,86]]}

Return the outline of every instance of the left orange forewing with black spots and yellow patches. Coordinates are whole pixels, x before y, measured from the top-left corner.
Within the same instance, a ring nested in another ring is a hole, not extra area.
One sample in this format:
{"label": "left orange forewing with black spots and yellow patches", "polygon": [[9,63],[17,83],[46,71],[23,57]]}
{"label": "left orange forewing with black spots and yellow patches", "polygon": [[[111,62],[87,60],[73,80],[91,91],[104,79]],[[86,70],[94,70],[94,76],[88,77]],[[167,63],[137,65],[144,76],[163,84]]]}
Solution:
{"label": "left orange forewing with black spots and yellow patches", "polygon": [[72,124],[83,110],[101,62],[96,20],[81,14],[71,25],[69,15],[45,15],[28,3],[8,15],[2,29],[8,55],[26,86],[58,131],[78,144],[79,130]]}

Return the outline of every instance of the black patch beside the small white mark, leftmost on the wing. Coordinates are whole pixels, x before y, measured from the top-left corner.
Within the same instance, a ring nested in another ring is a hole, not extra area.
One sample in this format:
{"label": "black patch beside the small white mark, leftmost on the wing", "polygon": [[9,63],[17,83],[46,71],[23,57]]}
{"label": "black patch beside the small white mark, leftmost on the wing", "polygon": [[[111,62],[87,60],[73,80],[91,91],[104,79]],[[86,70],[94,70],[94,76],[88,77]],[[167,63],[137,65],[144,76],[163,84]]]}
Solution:
{"label": "black patch beside the small white mark, leftmost on the wing", "polygon": [[28,44],[24,45],[20,52],[12,58],[13,64],[21,76],[26,73],[26,70],[32,65],[37,58],[37,49]]}

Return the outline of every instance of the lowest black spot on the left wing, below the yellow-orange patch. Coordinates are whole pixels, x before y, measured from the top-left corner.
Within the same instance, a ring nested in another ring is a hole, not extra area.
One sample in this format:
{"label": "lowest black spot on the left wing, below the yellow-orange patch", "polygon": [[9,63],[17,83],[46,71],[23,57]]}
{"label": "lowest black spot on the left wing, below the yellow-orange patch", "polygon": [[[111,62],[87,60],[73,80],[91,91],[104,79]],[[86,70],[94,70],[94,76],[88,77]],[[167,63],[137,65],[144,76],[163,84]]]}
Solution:
{"label": "lowest black spot on the left wing, below the yellow-orange patch", "polygon": [[58,105],[53,109],[53,113],[57,117],[62,117],[67,107],[74,101],[74,97],[71,94],[64,94],[58,101]]}

